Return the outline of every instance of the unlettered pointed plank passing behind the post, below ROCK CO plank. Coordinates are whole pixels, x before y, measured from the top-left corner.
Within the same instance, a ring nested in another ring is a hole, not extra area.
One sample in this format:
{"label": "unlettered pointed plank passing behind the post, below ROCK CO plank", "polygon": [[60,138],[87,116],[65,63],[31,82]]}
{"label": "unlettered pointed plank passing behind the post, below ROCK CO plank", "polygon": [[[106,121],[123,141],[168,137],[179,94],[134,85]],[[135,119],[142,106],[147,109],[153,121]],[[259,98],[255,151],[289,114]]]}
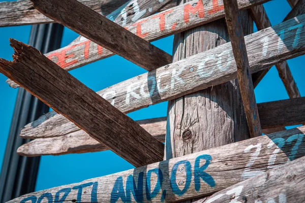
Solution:
{"label": "unlettered pointed plank passing behind the post, below ROCK CO plank", "polygon": [[[284,126],[305,122],[305,97],[261,103],[257,107],[265,134],[286,130]],[[166,117],[137,122],[159,141],[165,141]],[[22,156],[41,156],[108,150],[80,129],[59,137],[49,130],[48,138],[38,138],[19,147],[17,153]]]}

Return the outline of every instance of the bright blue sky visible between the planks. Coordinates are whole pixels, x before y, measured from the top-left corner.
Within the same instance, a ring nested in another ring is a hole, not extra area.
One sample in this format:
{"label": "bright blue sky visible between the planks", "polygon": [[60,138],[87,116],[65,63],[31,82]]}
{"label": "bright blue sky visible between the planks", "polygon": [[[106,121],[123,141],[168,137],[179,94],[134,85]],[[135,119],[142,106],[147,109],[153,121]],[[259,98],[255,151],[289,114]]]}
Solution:
{"label": "bright blue sky visible between the planks", "polygon": [[[0,0],[0,2],[4,2]],[[272,25],[281,23],[291,10],[286,0],[276,0],[264,4]],[[9,38],[28,43],[31,26],[0,27],[0,57],[12,59],[13,49],[9,46]],[[256,28],[255,28],[256,31]],[[68,45],[78,36],[65,28],[62,46]],[[153,44],[168,53],[172,53],[173,37],[167,37]],[[305,95],[305,56],[288,60],[292,75],[301,95]],[[112,56],[92,64],[85,65],[70,73],[95,91],[104,89],[118,82],[127,80],[146,71],[119,56]],[[119,74],[118,74],[119,73]],[[14,111],[17,90],[10,88],[6,77],[0,74],[0,168],[5,153],[11,119]],[[257,103],[289,98],[285,87],[272,67],[255,89]],[[167,103],[150,106],[128,114],[134,120],[166,116]],[[279,115],[281,116],[281,115]],[[111,151],[70,154],[62,156],[43,156],[37,180],[36,190],[47,189],[59,185],[80,182],[84,179],[113,174],[133,168],[124,159]]]}

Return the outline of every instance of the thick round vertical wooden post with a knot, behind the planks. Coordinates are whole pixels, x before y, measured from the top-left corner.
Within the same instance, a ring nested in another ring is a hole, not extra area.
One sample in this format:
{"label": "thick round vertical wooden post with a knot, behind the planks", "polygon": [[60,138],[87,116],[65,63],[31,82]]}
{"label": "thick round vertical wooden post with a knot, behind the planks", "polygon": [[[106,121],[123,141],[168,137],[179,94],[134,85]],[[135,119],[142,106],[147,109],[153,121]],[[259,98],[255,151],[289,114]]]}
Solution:
{"label": "thick round vertical wooden post with a knot, behind the planks", "polygon": [[[213,5],[214,10],[217,10],[216,7],[223,9],[223,5],[218,5],[217,0],[213,1]],[[193,5],[190,11],[194,14],[196,9],[196,5]],[[248,11],[243,11],[240,15],[243,32],[245,35],[252,33],[253,20]],[[181,32],[174,36],[173,61],[228,41],[229,35],[224,19]],[[211,60],[216,63],[221,59],[211,56]],[[165,159],[249,138],[237,79],[168,103]]]}

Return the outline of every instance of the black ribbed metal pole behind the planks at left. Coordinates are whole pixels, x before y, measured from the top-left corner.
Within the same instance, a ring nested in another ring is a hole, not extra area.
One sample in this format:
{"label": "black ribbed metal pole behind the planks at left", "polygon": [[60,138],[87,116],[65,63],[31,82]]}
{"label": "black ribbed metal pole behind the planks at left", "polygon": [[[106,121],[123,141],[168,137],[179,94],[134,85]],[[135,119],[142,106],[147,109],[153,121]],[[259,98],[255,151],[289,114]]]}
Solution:
{"label": "black ribbed metal pole behind the planks at left", "polygon": [[[55,23],[33,25],[28,44],[43,53],[59,49],[63,30],[62,25]],[[40,157],[19,156],[16,151],[29,142],[19,137],[20,129],[48,111],[48,106],[19,88],[0,175],[0,202],[34,192]]]}

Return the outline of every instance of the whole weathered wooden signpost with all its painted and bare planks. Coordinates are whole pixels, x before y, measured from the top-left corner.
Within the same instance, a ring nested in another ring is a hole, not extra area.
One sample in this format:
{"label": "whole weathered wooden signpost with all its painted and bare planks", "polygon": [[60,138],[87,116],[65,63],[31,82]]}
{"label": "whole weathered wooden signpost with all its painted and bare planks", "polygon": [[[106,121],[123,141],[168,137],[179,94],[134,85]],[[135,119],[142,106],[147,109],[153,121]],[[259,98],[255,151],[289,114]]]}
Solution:
{"label": "whole weathered wooden signpost with all its painted and bare planks", "polygon": [[[305,127],[285,129],[305,123],[286,62],[305,54],[304,0],[289,0],[275,26],[261,5],[269,0],[31,1],[0,3],[0,26],[54,20],[81,36],[45,55],[11,39],[14,60],[0,58],[12,87],[54,109],[21,130],[35,140],[17,153],[112,150],[137,168],[9,202],[305,202]],[[252,18],[259,31],[244,37]],[[149,43],[172,34],[173,59]],[[114,54],[148,73],[94,92],[66,72]],[[256,104],[254,88],[272,65],[290,99]],[[162,101],[167,118],[125,115]]]}

